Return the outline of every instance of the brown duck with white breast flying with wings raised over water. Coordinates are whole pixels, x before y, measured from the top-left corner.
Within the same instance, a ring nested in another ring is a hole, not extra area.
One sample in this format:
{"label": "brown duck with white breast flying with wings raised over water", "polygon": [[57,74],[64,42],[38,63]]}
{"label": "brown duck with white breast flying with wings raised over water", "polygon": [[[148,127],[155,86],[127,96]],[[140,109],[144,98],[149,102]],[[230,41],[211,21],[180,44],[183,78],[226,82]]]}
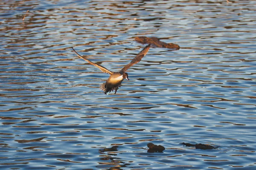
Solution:
{"label": "brown duck with white breast flying with wings raised over water", "polygon": [[99,64],[93,63],[92,61],[88,60],[87,58],[79,55],[75,49],[74,52],[76,53],[77,56],[80,58],[84,59],[88,63],[92,64],[93,66],[98,67],[102,72],[110,74],[108,80],[106,83],[103,83],[100,86],[100,89],[104,91],[105,95],[107,95],[107,92],[111,92],[115,90],[115,94],[118,90],[118,88],[121,86],[121,83],[124,79],[129,80],[128,78],[128,73],[126,72],[127,69],[129,69],[132,65],[140,62],[140,60],[147,54],[148,50],[150,48],[150,44],[145,46],[145,48],[134,58],[130,63],[128,63],[126,66],[124,66],[119,72],[111,72],[110,70],[106,69],[104,66],[101,66]]}

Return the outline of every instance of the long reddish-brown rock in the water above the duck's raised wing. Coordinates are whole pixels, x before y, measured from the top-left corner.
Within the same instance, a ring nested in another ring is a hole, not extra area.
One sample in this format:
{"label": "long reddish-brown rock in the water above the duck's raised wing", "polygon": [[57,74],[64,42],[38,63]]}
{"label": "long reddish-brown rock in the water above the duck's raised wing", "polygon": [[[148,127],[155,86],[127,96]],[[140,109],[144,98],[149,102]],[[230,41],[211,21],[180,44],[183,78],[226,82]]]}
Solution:
{"label": "long reddish-brown rock in the water above the duck's raised wing", "polygon": [[180,49],[180,46],[178,46],[177,44],[165,43],[163,41],[160,41],[157,37],[135,37],[135,40],[143,44],[153,44],[160,48]]}

